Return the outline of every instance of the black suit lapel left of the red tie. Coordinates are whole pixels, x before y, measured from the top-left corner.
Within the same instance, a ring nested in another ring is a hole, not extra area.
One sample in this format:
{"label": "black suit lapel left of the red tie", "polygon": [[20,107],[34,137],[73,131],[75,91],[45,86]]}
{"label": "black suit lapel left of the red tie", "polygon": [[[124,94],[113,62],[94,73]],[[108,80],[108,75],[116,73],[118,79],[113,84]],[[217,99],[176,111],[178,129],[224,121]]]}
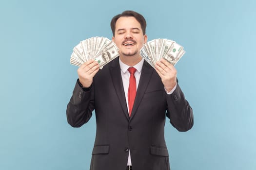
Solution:
{"label": "black suit lapel left of the red tie", "polygon": [[109,67],[109,70],[110,70],[110,75],[112,77],[114,88],[118,95],[119,102],[123,109],[123,113],[125,114],[126,118],[129,120],[130,118],[129,118],[129,114],[126,106],[125,94],[124,94],[122,77],[120,72],[120,65],[118,61],[119,61],[119,57],[114,59],[113,62],[110,63],[111,65]]}

